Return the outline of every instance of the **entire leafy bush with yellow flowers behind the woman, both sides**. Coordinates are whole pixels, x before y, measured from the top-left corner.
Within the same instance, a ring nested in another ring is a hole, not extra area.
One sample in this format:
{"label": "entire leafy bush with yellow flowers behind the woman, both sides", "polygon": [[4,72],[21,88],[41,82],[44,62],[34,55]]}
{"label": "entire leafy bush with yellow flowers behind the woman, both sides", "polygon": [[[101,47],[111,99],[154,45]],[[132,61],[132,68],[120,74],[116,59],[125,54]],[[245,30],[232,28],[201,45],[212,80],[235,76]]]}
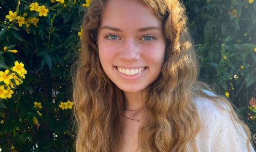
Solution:
{"label": "entire leafy bush with yellow flowers behind the woman, both sides", "polygon": [[[72,59],[90,0],[0,0],[1,152],[71,151]],[[200,79],[256,128],[256,0],[184,0]]]}

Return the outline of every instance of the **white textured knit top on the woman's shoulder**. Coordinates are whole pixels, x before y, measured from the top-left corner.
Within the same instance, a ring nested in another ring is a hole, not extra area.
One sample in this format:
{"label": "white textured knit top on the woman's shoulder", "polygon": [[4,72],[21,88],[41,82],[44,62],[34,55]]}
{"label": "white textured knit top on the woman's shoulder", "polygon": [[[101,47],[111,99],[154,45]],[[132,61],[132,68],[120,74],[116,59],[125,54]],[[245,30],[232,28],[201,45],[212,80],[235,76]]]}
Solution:
{"label": "white textured knit top on the woman's shoulder", "polygon": [[[199,152],[248,152],[242,126],[227,111],[206,98],[198,97],[195,103],[201,118],[196,138]],[[252,146],[251,152],[255,152]]]}

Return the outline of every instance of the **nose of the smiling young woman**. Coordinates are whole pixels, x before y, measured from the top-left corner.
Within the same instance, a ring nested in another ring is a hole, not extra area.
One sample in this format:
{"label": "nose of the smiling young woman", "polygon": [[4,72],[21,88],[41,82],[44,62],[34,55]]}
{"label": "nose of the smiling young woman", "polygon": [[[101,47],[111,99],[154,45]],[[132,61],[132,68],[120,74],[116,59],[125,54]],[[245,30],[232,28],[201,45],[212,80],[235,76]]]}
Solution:
{"label": "nose of the smiling young woman", "polygon": [[119,56],[125,61],[134,61],[140,59],[140,48],[137,42],[133,39],[124,41],[120,49]]}

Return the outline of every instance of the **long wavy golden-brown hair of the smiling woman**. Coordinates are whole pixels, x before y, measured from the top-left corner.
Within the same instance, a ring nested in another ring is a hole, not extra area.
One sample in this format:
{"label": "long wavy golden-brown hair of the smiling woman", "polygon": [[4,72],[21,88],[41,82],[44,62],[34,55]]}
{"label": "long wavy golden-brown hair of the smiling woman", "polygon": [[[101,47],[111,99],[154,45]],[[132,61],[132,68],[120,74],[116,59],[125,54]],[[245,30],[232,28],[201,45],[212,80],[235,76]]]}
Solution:
{"label": "long wavy golden-brown hair of the smiling woman", "polygon": [[[191,142],[193,151],[198,152],[195,138],[201,122],[195,96],[211,99],[216,105],[227,104],[227,111],[247,134],[249,150],[250,130],[237,118],[230,102],[206,94],[203,89],[210,90],[209,86],[197,80],[198,57],[186,25],[184,5],[179,0],[142,1],[163,21],[167,48],[161,74],[147,87],[147,117],[138,135],[141,151],[188,152],[187,144]],[[73,65],[77,152],[117,152],[121,140],[124,93],[104,73],[97,46],[105,3],[92,0],[83,20],[82,51]]]}

